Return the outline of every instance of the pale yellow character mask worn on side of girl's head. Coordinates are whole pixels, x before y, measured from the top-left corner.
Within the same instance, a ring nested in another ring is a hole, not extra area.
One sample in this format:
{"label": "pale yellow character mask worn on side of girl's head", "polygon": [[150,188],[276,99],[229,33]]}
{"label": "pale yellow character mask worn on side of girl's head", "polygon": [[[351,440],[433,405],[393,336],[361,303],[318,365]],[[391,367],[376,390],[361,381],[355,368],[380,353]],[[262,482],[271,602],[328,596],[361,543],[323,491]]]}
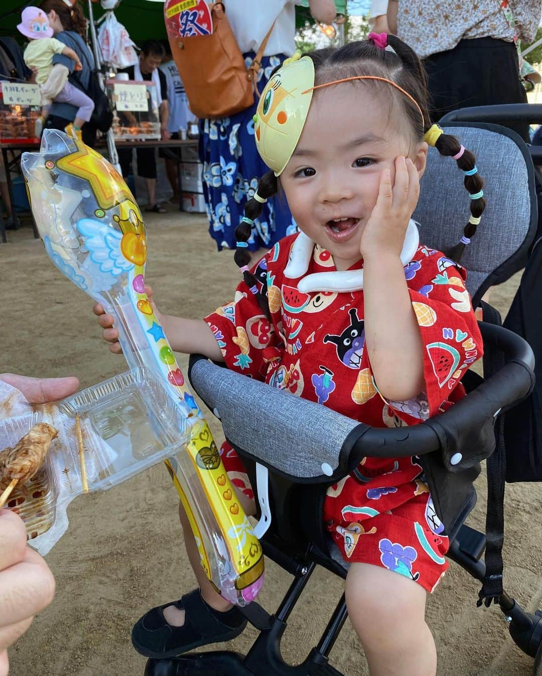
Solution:
{"label": "pale yellow character mask worn on side of girl's head", "polygon": [[263,90],[254,116],[254,137],[258,153],[275,176],[284,171],[299,141],[313,86],[313,60],[305,56],[286,59]]}

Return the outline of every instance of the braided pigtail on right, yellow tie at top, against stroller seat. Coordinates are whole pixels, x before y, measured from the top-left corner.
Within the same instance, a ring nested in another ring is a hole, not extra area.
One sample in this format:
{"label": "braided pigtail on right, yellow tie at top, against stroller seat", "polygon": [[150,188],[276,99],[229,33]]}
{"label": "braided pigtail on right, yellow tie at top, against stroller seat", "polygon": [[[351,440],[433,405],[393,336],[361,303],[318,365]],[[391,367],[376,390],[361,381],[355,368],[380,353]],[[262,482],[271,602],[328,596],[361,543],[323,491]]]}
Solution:
{"label": "braided pigtail on right, yellow tie at top, against stroller seat", "polygon": [[441,155],[455,160],[459,169],[465,174],[464,186],[470,197],[470,218],[464,227],[463,236],[459,242],[446,252],[449,258],[459,262],[466,245],[470,244],[470,240],[476,233],[480,216],[482,216],[486,206],[484,191],[482,190],[484,181],[478,174],[474,155],[461,145],[455,136],[445,134],[438,125],[433,124],[426,132],[424,139],[429,145],[434,145]]}

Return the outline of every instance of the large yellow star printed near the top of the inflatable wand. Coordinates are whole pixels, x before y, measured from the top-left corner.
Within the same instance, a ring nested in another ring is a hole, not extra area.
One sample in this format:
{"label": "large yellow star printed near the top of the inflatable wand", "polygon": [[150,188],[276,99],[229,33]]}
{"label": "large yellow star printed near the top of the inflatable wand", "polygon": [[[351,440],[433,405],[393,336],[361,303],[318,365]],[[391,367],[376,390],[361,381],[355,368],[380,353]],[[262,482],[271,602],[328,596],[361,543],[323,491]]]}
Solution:
{"label": "large yellow star printed near the top of the inflatable wand", "polygon": [[57,161],[58,169],[87,180],[98,203],[105,211],[134,197],[124,178],[99,153],[84,143],[75,141],[77,150]]}

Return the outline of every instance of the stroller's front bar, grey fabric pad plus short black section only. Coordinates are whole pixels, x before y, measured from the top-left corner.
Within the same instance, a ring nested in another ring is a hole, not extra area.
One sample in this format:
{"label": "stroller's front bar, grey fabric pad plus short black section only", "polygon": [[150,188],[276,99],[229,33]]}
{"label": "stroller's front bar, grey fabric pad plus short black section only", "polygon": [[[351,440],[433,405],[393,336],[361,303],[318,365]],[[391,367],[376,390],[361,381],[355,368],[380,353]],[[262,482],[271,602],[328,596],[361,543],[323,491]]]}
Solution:
{"label": "stroller's front bar, grey fabric pad plus short black section only", "polygon": [[425,423],[369,427],[199,355],[190,358],[189,378],[235,448],[298,483],[338,481],[367,455],[399,458],[441,448]]}

